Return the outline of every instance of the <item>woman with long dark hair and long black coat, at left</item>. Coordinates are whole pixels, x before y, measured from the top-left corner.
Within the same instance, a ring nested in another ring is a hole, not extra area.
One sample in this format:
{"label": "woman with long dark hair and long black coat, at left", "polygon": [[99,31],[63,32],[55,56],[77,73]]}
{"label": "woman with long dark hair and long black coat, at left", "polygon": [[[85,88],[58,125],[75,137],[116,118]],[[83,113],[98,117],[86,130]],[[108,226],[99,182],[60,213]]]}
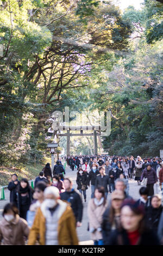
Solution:
{"label": "woman with long dark hair and long black coat, at left", "polygon": [[20,184],[17,186],[17,206],[21,218],[26,220],[27,211],[32,203],[33,189],[29,186],[26,178],[21,179]]}

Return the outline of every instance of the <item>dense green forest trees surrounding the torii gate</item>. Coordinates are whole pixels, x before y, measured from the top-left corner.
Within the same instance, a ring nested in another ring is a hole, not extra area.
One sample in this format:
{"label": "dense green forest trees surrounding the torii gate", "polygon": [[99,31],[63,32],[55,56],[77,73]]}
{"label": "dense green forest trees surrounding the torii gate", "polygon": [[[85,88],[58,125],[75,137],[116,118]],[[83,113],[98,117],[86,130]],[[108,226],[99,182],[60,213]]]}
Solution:
{"label": "dense green forest trees surrounding the torii gate", "polygon": [[[65,106],[111,111],[111,134],[98,146],[110,155],[159,156],[162,18],[155,0],[124,12],[111,1],[0,0],[0,164],[41,162],[48,120]],[[71,146],[91,154],[93,141]]]}

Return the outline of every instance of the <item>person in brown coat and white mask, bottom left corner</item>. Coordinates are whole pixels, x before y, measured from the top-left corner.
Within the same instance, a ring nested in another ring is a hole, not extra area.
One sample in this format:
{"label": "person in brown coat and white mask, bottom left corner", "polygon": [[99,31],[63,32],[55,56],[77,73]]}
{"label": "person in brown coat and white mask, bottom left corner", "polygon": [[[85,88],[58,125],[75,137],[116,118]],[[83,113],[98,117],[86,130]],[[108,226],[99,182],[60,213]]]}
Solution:
{"label": "person in brown coat and white mask, bottom left corner", "polygon": [[0,222],[0,245],[25,245],[29,235],[27,221],[18,215],[14,203],[6,204]]}

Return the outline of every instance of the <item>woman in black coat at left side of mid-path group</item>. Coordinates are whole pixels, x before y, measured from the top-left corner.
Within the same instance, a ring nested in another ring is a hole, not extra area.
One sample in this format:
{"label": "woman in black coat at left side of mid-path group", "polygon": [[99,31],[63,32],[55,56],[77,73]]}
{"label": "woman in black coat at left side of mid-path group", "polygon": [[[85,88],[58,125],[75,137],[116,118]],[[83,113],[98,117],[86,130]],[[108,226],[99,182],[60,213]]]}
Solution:
{"label": "woman in black coat at left side of mid-path group", "polygon": [[81,167],[77,172],[77,190],[84,196],[84,202],[86,202],[86,190],[87,190],[87,175]]}

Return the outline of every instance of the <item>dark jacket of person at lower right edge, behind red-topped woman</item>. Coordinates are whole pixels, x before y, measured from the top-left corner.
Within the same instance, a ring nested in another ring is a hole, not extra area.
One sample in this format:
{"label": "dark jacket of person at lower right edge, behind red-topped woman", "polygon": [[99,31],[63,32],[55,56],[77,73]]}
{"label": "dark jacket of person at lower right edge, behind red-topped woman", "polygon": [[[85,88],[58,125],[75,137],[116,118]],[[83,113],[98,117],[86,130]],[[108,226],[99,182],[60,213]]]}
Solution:
{"label": "dark jacket of person at lower right edge, behind red-topped woman", "polygon": [[149,206],[146,209],[146,223],[147,227],[155,232],[158,231],[158,225],[160,221],[160,216],[162,213],[162,205],[159,208],[153,208],[153,206]]}

